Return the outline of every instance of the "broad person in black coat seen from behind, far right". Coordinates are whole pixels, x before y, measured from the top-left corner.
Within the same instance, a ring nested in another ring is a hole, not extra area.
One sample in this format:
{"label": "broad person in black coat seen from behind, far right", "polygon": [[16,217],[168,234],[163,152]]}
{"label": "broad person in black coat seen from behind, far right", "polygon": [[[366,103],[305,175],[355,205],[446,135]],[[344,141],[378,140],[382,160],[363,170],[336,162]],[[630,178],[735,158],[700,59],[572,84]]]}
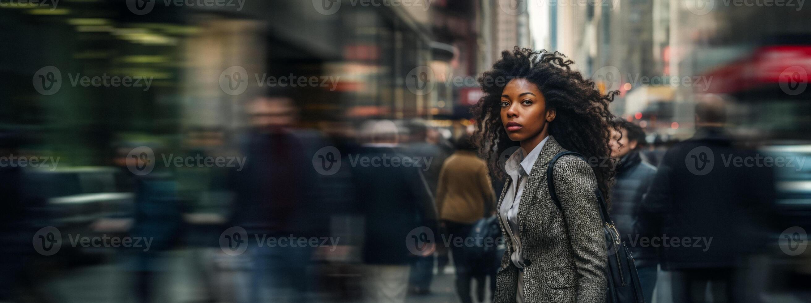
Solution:
{"label": "broad person in black coat seen from behind, far right", "polygon": [[636,233],[663,249],[675,302],[705,301],[710,281],[714,302],[742,301],[733,297],[741,290],[733,283],[736,264],[766,244],[773,173],[727,161],[757,153],[736,147],[723,129],[725,111],[718,96],[697,103],[696,134],[667,151],[638,209]]}

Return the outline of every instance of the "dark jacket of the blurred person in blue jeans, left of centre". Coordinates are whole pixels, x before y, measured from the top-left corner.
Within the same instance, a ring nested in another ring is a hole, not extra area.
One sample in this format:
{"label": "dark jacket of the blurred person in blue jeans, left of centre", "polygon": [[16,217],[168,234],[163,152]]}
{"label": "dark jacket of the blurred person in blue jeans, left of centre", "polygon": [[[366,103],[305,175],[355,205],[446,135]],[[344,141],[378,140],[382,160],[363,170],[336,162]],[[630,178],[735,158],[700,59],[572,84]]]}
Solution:
{"label": "dark jacket of the blurred person in blue jeans, left of centre", "polygon": [[241,226],[248,233],[271,237],[322,236],[324,219],[318,204],[320,185],[311,164],[308,139],[298,130],[272,133],[252,132],[242,147],[247,161],[234,169],[230,189],[234,191],[234,214],[229,226]]}

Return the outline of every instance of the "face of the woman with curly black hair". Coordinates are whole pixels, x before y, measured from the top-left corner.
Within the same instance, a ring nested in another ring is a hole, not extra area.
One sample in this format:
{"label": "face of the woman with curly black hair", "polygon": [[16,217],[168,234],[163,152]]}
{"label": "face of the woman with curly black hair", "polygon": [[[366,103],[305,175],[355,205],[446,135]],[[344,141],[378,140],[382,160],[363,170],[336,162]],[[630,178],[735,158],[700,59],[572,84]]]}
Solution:
{"label": "face of the woman with curly black hair", "polygon": [[537,137],[547,122],[555,119],[554,110],[547,111],[547,102],[534,83],[513,79],[501,92],[501,124],[509,139],[525,141]]}

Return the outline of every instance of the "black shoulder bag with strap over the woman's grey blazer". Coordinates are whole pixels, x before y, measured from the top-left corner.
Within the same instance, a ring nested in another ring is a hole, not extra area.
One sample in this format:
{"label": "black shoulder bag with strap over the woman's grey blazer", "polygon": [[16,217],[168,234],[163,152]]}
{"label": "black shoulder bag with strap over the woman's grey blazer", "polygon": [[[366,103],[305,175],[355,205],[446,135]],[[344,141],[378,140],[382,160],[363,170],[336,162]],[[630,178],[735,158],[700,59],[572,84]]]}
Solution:
{"label": "black shoulder bag with strap over the woman's grey blazer", "polygon": [[[583,160],[586,157],[574,151],[561,151],[555,155],[547,168],[547,182],[549,186],[549,195],[555,205],[563,212],[563,207],[560,207],[557,194],[555,193],[555,183],[552,180],[552,169],[555,168],[555,162],[561,156],[574,155]],[[645,297],[642,297],[642,285],[639,284],[639,275],[637,275],[637,267],[633,265],[633,254],[628,250],[620,238],[620,233],[614,227],[614,221],[608,216],[608,210],[603,199],[603,194],[598,189],[595,193],[597,196],[597,203],[600,207],[600,217],[603,219],[603,232],[607,243],[608,263],[606,264],[606,275],[608,285],[606,288],[608,303],[645,303]],[[565,218],[565,216],[564,216]],[[564,219],[565,220],[565,219]]]}

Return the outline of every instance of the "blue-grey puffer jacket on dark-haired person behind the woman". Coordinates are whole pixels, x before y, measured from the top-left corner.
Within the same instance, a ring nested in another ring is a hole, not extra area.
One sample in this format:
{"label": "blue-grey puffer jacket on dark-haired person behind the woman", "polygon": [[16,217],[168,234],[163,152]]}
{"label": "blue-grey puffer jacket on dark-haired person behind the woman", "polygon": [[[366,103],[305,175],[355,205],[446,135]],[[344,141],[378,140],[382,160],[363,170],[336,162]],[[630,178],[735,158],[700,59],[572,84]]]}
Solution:
{"label": "blue-grey puffer jacket on dark-haired person behind the woman", "polygon": [[658,262],[656,248],[633,245],[637,243],[638,236],[632,233],[633,215],[642,203],[642,197],[648,191],[655,173],[656,168],[642,160],[639,151],[631,151],[617,163],[614,186],[611,188],[611,219],[637,259],[637,266]]}

